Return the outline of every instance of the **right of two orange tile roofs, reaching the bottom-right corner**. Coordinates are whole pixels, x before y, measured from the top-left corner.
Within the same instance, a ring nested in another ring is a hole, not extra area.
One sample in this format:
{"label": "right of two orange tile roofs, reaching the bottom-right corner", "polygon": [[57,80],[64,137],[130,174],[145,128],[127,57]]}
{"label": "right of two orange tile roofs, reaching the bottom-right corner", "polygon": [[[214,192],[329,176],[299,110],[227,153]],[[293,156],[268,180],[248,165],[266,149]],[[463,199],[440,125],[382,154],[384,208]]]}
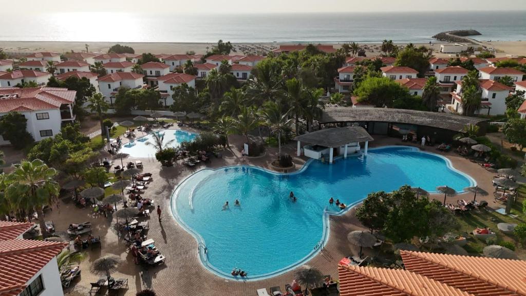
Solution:
{"label": "right of two orange tile roofs, reaching the bottom-right corner", "polygon": [[407,271],[474,295],[526,295],[526,261],[400,251]]}

